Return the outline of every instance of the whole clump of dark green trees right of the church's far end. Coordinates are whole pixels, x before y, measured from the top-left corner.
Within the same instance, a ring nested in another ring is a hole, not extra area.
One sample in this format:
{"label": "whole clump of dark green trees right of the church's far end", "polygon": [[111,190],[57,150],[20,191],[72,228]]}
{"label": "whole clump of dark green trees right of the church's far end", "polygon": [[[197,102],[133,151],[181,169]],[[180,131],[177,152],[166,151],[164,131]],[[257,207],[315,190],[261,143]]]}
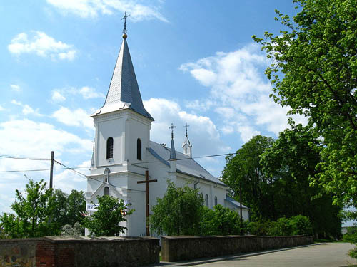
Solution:
{"label": "whole clump of dark green trees right of the church's far end", "polygon": [[339,236],[339,206],[331,194],[310,181],[321,162],[319,142],[301,125],[281,132],[277,140],[256,136],[235,156],[227,157],[223,182],[233,191],[242,190],[242,202],[251,208],[251,221],[276,221],[304,215],[311,219],[317,236]]}

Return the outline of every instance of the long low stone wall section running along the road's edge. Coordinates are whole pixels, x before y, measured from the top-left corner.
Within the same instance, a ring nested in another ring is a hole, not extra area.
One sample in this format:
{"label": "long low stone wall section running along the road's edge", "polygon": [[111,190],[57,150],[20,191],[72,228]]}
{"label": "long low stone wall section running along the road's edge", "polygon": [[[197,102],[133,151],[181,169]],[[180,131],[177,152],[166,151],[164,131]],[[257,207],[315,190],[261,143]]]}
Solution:
{"label": "long low stone wall section running along the road's edge", "polygon": [[311,236],[162,236],[163,261],[184,261],[313,243]]}

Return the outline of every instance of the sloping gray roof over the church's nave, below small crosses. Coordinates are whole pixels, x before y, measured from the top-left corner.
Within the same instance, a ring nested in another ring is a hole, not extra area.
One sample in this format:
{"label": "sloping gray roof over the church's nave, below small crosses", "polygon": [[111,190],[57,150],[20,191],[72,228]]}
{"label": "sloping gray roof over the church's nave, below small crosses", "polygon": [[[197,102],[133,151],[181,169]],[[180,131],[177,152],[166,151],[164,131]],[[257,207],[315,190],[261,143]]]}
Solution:
{"label": "sloping gray roof over the church's nave, below small crosses", "polygon": [[[170,166],[168,160],[170,158],[170,148],[164,147],[156,142],[150,141],[149,152],[151,155],[159,159],[159,161],[163,162],[167,166]],[[184,155],[181,152],[176,151],[176,168],[177,172],[181,172],[183,174],[188,174],[199,179],[206,179],[211,182],[215,182],[217,184],[224,184],[218,178],[214,177],[210,174],[206,169],[204,169],[200,164],[198,164],[194,159],[188,157],[188,155]]]}

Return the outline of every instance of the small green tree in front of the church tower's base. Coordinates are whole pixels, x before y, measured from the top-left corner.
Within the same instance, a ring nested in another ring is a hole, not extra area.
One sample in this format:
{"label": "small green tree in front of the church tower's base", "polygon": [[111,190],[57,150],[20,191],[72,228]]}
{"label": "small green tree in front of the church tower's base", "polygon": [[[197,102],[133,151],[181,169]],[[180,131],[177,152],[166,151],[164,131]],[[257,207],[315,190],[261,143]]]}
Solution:
{"label": "small green tree in front of the church tower's base", "polygon": [[91,236],[119,236],[124,233],[126,227],[119,223],[126,221],[126,216],[132,214],[134,209],[129,210],[129,204],[116,197],[98,196],[97,199],[97,210],[84,219],[84,226],[89,229]]}

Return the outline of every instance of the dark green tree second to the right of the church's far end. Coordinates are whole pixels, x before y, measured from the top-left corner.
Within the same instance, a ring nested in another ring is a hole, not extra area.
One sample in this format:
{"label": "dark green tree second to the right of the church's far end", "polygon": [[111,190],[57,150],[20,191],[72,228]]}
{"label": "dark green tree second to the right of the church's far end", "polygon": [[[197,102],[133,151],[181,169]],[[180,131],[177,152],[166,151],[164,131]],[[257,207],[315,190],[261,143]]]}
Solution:
{"label": "dark green tree second to the right of the church's far end", "polygon": [[338,237],[341,208],[333,206],[331,194],[309,182],[319,174],[320,152],[311,130],[292,124],[261,155],[261,165],[266,177],[272,177],[275,201],[271,204],[278,218],[304,215],[311,219],[316,235]]}

